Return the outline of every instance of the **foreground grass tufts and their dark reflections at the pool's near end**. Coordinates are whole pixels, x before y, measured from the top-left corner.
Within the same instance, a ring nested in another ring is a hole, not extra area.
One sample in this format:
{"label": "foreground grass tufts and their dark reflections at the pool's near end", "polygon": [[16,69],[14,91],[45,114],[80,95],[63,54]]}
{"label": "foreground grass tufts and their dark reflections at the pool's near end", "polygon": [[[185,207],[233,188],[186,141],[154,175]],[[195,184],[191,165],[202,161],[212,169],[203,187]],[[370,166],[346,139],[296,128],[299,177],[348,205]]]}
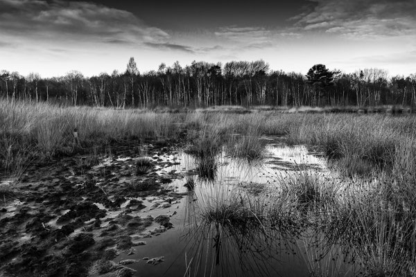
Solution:
{"label": "foreground grass tufts and their dark reflections at the pool's near end", "polygon": [[[204,188],[201,188],[203,186]],[[189,276],[353,276],[309,211],[288,195],[253,196],[239,186],[200,184],[187,199]],[[283,269],[283,270],[282,270]]]}

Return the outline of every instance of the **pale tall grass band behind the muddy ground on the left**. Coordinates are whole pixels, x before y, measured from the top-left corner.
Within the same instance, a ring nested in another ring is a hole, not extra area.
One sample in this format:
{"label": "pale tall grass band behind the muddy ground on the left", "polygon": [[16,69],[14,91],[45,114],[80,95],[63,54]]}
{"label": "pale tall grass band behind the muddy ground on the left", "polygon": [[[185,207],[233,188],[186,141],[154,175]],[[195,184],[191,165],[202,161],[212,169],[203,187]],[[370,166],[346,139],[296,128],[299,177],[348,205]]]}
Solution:
{"label": "pale tall grass band behind the muddy ground on the left", "polygon": [[31,161],[73,151],[73,129],[88,151],[122,139],[175,138],[180,115],[151,111],[58,107],[0,100],[0,171],[18,175]]}

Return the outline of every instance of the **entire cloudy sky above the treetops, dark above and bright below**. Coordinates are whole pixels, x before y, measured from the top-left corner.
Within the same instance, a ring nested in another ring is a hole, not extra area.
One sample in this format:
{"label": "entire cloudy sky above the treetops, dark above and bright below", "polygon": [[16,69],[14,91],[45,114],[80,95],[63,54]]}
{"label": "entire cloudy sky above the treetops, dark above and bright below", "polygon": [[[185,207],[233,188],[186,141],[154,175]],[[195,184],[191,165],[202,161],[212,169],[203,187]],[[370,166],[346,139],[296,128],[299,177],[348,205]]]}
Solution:
{"label": "entire cloudy sky above the treetops, dark above and bright below", "polygon": [[263,59],[416,73],[416,0],[0,0],[0,70],[44,78]]}

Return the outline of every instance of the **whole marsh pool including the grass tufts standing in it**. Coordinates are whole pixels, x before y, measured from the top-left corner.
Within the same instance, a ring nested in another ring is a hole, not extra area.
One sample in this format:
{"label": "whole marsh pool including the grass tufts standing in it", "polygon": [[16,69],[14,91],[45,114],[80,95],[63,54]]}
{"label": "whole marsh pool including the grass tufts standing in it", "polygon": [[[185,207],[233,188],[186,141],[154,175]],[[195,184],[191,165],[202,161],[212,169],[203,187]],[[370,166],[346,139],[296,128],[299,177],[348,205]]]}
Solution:
{"label": "whole marsh pool including the grass tufts standing in it", "polygon": [[[179,177],[164,186],[187,193],[191,181],[194,190],[175,202],[141,199],[146,208],[135,215],[168,215],[173,229],[159,233],[153,222],[135,236],[145,242],[136,253],[114,261],[139,260],[128,265],[137,276],[354,276],[356,265],[343,249],[311,229],[308,208],[276,194],[284,190],[282,181],[300,172],[330,175],[326,161],[302,145],[266,139],[261,163],[232,159],[223,150],[214,179],[198,175],[198,159],[184,152],[155,157],[162,164],[157,175]],[[146,262],[152,258],[157,265]]]}

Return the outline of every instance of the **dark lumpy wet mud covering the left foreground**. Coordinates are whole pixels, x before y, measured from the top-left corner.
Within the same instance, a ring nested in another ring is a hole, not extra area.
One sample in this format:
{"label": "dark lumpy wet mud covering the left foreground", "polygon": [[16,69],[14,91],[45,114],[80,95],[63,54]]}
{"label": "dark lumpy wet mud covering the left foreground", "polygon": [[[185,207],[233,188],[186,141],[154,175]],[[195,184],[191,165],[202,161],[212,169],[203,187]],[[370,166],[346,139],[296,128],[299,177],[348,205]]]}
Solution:
{"label": "dark lumpy wet mud covering the left foreground", "polygon": [[0,276],[132,276],[134,260],[112,260],[174,227],[183,194],[169,184],[184,176],[166,168],[179,146],[124,141],[33,163],[1,199]]}

